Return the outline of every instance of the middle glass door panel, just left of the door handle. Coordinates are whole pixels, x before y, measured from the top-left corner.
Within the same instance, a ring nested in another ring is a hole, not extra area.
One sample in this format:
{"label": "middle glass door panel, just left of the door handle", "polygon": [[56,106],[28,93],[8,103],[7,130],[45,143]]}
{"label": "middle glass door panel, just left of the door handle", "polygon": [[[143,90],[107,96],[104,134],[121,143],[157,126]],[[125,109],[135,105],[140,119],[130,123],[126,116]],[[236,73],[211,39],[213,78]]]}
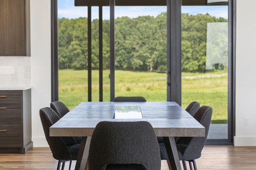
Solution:
{"label": "middle glass door panel, just left of the door handle", "polygon": [[115,96],[166,101],[166,7],[115,7]]}

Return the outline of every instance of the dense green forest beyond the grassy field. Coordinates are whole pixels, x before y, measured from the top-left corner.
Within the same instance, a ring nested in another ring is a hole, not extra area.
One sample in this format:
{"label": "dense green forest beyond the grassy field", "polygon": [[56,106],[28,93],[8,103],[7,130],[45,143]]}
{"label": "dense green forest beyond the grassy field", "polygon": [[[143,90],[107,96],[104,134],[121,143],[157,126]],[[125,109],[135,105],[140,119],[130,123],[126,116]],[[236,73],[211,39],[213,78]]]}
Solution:
{"label": "dense green forest beyond the grassy field", "polygon": [[[182,71],[205,72],[209,14],[182,14]],[[103,69],[109,69],[109,20],[103,21]],[[59,69],[87,69],[87,18],[59,18]],[[98,19],[92,21],[92,69],[98,69]],[[115,20],[115,69],[166,71],[166,12]]]}

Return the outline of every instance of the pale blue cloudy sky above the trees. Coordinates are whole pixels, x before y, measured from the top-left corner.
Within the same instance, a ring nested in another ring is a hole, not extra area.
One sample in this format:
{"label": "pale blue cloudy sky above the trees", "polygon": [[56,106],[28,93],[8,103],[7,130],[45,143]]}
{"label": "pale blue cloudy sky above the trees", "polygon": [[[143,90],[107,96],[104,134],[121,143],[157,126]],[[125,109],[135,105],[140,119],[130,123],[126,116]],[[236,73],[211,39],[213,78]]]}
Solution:
{"label": "pale blue cloudy sky above the trees", "polygon": [[[109,20],[109,7],[103,7],[103,20]],[[138,16],[158,16],[161,12],[166,12],[166,6],[116,6],[115,18],[128,16],[136,18]],[[210,14],[216,18],[228,18],[228,6],[182,6],[182,13],[190,15]],[[87,7],[74,6],[74,0],[58,0],[58,18],[79,18],[87,17]],[[92,7],[92,19],[98,18],[98,7]]]}

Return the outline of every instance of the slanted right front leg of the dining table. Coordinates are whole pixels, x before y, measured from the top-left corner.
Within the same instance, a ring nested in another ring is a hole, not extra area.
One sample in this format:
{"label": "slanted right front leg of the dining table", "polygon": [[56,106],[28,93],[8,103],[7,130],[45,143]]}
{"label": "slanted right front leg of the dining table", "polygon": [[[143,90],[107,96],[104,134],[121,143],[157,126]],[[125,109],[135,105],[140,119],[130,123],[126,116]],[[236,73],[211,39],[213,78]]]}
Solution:
{"label": "slanted right front leg of the dining table", "polygon": [[172,170],[181,170],[180,159],[174,137],[163,137]]}

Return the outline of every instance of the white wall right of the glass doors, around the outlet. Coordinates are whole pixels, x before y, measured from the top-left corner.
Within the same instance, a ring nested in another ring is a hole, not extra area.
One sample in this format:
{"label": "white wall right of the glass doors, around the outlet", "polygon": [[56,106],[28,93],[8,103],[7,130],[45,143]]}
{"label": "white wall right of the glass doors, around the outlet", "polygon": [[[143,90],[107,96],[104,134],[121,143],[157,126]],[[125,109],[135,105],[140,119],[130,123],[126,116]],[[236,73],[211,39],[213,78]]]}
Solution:
{"label": "white wall right of the glass doors, around the outlet", "polygon": [[[256,146],[256,0],[236,2],[235,146]],[[249,117],[249,126],[244,125]]]}

